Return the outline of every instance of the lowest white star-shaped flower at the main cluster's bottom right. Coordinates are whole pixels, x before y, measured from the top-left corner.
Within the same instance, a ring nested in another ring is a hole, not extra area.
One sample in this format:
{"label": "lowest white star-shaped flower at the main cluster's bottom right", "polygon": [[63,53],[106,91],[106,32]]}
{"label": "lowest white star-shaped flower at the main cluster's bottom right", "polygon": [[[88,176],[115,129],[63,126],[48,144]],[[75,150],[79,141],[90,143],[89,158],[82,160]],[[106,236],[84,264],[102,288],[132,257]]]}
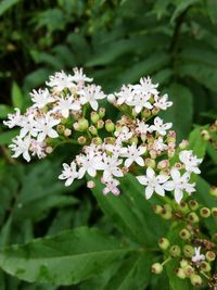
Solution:
{"label": "lowest white star-shaped flower at the main cluster's bottom right", "polygon": [[173,180],[167,181],[164,187],[167,191],[175,191],[175,200],[180,203],[183,198],[183,191],[191,194],[195,191],[195,184],[189,184],[190,173],[184,173],[182,176],[177,168],[170,171],[170,176]]}

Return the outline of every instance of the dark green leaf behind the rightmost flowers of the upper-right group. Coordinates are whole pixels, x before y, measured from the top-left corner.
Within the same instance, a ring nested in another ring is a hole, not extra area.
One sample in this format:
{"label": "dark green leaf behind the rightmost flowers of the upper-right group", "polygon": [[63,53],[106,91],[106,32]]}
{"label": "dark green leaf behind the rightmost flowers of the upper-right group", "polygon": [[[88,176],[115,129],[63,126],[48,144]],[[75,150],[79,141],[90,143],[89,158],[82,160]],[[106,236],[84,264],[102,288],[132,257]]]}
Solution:
{"label": "dark green leaf behind the rightmost flowers of the upper-right group", "polygon": [[181,140],[188,137],[191,129],[193,116],[193,97],[187,87],[176,83],[173,84],[167,91],[169,100],[173,101],[174,104],[161,115],[163,116],[164,122],[171,122],[174,124],[173,128],[177,133],[177,139]]}

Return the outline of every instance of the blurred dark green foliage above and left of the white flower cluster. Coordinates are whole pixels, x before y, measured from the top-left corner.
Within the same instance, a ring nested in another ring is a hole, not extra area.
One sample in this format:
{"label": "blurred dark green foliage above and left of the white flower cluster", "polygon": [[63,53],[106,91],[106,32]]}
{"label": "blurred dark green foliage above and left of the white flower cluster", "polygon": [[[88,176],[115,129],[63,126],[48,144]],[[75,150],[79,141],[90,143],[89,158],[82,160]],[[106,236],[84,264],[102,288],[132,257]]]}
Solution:
{"label": "blurred dark green foliage above and left of the white flower cluster", "polygon": [[[24,112],[29,91],[50,74],[74,66],[85,67],[106,92],[150,75],[174,101],[164,119],[174,123],[178,140],[188,138],[217,117],[217,1],[0,1],[1,119],[14,106]],[[73,159],[77,148],[60,148],[46,161],[26,164],[12,160],[7,149],[16,134],[0,125],[0,245],[79,225],[115,232],[82,181],[66,189],[56,178],[61,162]],[[204,177],[213,182],[217,161],[209,151]],[[56,288],[0,273],[0,290],[16,289],[88,290],[91,282]]]}

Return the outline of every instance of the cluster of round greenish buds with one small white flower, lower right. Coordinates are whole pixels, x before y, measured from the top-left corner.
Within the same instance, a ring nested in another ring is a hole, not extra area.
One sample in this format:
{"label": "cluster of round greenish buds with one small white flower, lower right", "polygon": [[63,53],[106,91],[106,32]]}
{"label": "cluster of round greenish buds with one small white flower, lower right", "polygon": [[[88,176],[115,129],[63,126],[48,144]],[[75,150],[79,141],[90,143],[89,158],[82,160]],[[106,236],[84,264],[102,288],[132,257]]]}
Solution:
{"label": "cluster of round greenish buds with one small white flower, lower right", "polygon": [[[216,197],[216,189],[210,194]],[[214,224],[217,207],[204,207],[196,200],[181,202],[179,205],[155,205],[154,212],[165,219],[175,223],[167,238],[158,240],[164,253],[163,263],[154,263],[152,272],[159,274],[165,264],[174,261],[175,274],[180,279],[190,279],[193,286],[206,285],[210,289],[217,287],[217,275],[214,273],[217,254],[216,234],[204,235],[203,224]]]}

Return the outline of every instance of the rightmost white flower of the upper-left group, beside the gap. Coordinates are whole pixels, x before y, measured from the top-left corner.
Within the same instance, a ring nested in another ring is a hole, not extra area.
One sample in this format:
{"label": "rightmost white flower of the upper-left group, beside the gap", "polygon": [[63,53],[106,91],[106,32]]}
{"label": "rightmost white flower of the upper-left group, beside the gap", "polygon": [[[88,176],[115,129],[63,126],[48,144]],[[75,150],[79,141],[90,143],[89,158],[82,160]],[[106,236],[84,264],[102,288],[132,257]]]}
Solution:
{"label": "rightmost white flower of the upper-left group, beside the gap", "polygon": [[97,111],[99,108],[98,100],[102,100],[106,97],[101,90],[101,86],[95,85],[88,85],[80,90],[79,93],[81,104],[89,103],[94,111]]}

